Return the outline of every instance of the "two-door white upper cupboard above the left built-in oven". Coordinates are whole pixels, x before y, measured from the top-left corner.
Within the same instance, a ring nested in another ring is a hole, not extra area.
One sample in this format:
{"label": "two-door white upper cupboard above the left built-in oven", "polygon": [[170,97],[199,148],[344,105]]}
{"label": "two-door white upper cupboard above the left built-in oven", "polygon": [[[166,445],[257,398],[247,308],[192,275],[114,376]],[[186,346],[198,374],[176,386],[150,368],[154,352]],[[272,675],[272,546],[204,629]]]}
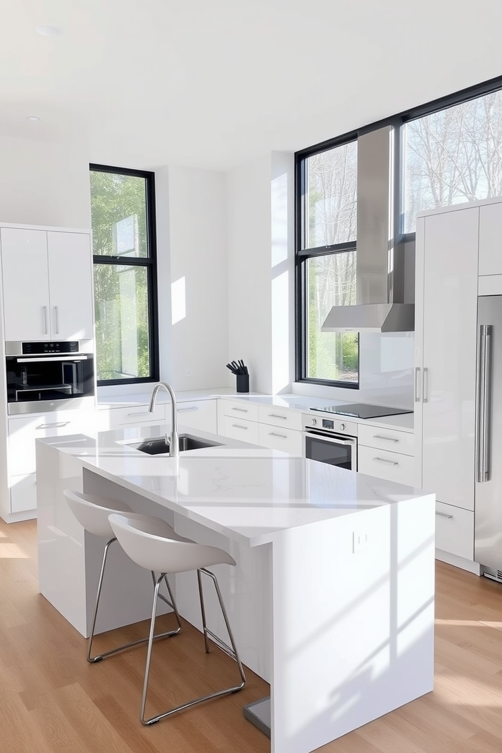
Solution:
{"label": "two-door white upper cupboard above the left built-in oven", "polygon": [[93,337],[89,233],[0,228],[5,340]]}

